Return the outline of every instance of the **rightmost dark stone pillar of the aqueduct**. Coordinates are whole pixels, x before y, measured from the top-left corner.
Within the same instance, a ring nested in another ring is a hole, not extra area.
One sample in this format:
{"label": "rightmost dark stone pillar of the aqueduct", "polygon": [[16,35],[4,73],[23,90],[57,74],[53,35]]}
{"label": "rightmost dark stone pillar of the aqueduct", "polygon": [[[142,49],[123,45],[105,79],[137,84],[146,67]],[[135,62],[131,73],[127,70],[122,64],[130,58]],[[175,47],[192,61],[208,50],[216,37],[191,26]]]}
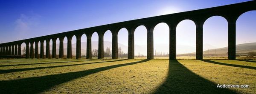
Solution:
{"label": "rightmost dark stone pillar of the aqueduct", "polygon": [[236,60],[236,22],[228,22],[228,59]]}

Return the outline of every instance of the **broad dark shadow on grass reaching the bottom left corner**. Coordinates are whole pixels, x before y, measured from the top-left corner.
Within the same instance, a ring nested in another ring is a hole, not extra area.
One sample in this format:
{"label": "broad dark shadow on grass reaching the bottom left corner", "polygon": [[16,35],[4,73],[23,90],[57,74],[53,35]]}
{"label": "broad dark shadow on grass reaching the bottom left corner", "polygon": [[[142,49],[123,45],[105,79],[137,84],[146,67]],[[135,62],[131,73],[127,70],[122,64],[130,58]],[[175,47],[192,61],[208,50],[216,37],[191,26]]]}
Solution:
{"label": "broad dark shadow on grass reaching the bottom left corner", "polygon": [[63,74],[47,75],[42,77],[30,77],[17,80],[0,81],[0,94],[37,94],[44,92],[61,83],[66,83],[79,77],[84,77],[111,68],[134,65],[148,60],[141,60],[132,63],[118,64],[85,71],[69,72]]}

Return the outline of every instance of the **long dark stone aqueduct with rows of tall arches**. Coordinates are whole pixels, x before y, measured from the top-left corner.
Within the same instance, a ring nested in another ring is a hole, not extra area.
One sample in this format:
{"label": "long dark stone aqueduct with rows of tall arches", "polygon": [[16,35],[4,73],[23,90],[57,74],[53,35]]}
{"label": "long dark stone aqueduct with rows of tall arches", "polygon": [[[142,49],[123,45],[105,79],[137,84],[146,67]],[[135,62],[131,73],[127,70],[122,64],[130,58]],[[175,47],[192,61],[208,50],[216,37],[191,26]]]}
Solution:
{"label": "long dark stone aqueduct with rows of tall arches", "polygon": [[[134,31],[138,26],[145,26],[147,29],[147,59],[154,59],[153,51],[153,30],[154,26],[158,23],[166,23],[169,26],[169,59],[176,59],[176,26],[182,20],[192,20],[196,25],[196,59],[203,59],[203,25],[205,20],[212,16],[224,17],[228,22],[228,59],[236,59],[236,20],[238,17],[247,12],[256,10],[256,1],[249,1],[244,3],[236,3],[226,6],[218,6],[208,9],[199,9],[194,11],[186,11],[175,14],[167,14],[156,17],[148,17],[137,20],[129,20],[120,23],[113,23],[108,25],[84,28],[74,31],[63,32],[59,34],[52,34],[42,37],[35,37],[26,40],[18,40],[9,43],[0,44],[0,54],[1,55],[21,55],[21,44],[26,43],[26,57],[30,58],[44,58],[44,41],[46,41],[46,58],[50,58],[50,44],[49,41],[52,40],[52,58],[56,58],[56,40],[59,38],[59,57],[64,57],[63,40],[67,37],[67,58],[72,58],[72,37],[76,36],[76,58],[81,58],[81,35],[85,34],[87,36],[87,58],[92,57],[91,49],[91,37],[94,32],[99,35],[99,48],[98,48],[98,58],[104,58],[103,49],[103,36],[107,30],[112,33],[112,59],[118,57],[118,43],[117,34],[121,28],[126,28],[128,30],[128,59],[134,59]],[[38,43],[40,46],[40,56],[38,54]],[[34,46],[35,43],[35,54]]]}

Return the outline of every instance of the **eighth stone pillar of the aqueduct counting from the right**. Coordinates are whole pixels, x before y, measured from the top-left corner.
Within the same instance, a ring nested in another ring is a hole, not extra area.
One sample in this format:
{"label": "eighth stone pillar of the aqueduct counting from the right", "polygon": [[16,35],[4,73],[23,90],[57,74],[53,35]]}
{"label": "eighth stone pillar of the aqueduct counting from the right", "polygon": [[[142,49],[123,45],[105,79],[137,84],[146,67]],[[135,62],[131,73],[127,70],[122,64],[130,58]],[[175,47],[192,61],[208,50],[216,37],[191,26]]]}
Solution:
{"label": "eighth stone pillar of the aqueduct counting from the right", "polygon": [[92,59],[92,36],[88,35],[87,36],[87,47],[86,47],[86,58],[87,59]]}

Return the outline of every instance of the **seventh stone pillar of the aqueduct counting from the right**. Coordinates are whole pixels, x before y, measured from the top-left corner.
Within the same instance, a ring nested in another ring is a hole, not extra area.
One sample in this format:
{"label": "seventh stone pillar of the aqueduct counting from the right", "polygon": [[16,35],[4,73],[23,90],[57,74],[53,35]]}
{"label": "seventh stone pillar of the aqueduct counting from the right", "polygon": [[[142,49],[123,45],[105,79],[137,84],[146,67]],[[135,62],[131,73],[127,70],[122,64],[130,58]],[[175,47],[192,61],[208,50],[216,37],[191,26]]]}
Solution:
{"label": "seventh stone pillar of the aqueduct counting from the right", "polygon": [[104,58],[104,35],[99,33],[98,59]]}

